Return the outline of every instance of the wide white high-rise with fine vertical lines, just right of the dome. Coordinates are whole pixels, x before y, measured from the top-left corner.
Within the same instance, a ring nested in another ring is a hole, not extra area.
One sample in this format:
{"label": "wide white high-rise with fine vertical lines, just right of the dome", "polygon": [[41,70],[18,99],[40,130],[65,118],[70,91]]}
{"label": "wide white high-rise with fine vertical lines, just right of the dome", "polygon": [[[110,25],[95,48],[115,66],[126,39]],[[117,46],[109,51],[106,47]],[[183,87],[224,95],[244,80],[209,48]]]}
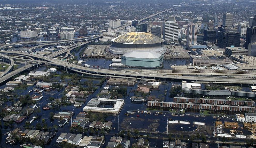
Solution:
{"label": "wide white high-rise with fine vertical lines, just right of the dome", "polygon": [[164,26],[165,30],[163,32],[163,39],[178,42],[179,24],[174,21],[166,21]]}

